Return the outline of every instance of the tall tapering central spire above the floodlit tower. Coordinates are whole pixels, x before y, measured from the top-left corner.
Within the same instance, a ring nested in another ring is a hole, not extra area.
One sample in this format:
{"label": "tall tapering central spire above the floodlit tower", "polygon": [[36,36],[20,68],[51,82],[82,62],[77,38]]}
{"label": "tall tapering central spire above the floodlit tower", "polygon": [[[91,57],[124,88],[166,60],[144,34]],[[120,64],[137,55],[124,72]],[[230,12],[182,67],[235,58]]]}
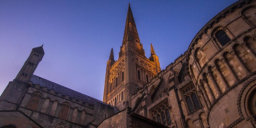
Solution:
{"label": "tall tapering central spire above the floodlit tower", "polygon": [[127,12],[127,17],[125,22],[123,44],[128,40],[133,42],[135,42],[136,40],[137,43],[140,43],[140,38],[139,38],[135,21],[132,15],[132,9],[131,9],[130,3],[128,6],[128,12]]}

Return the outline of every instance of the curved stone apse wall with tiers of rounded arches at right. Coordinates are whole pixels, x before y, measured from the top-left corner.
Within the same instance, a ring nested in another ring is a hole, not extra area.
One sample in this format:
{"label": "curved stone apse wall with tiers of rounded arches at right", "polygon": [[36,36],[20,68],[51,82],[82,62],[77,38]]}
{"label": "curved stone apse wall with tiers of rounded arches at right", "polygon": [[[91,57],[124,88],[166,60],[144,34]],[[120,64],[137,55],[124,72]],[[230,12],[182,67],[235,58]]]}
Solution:
{"label": "curved stone apse wall with tiers of rounded arches at right", "polygon": [[237,98],[256,71],[255,4],[241,0],[230,5],[198,32],[188,48],[188,71],[211,127],[250,124],[238,113]]}

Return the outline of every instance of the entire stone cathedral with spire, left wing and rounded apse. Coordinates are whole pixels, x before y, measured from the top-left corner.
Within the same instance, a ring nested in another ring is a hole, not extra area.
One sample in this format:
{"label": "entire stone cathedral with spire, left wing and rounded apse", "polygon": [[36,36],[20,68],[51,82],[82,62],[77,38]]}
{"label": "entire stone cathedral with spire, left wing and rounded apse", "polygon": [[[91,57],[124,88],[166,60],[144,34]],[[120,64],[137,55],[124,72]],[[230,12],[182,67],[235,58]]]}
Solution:
{"label": "entire stone cathedral with spire, left wing and rounded apse", "polygon": [[256,128],[256,0],[219,12],[165,69],[157,47],[145,56],[133,14],[129,4],[103,101],[33,75],[42,45],[2,93],[0,128]]}

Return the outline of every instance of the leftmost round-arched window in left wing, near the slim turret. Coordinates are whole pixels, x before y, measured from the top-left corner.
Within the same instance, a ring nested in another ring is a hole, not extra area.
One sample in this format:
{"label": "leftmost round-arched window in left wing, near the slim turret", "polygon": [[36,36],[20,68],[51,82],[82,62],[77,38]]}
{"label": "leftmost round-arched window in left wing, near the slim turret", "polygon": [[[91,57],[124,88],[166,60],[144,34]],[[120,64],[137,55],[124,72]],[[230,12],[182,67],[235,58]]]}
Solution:
{"label": "leftmost round-arched window in left wing, near the slim turret", "polygon": [[41,93],[39,93],[39,92],[33,93],[33,95],[31,96],[31,98],[30,98],[30,100],[28,102],[27,108],[32,109],[32,110],[36,110],[36,108],[37,108],[41,98],[42,98],[42,94]]}

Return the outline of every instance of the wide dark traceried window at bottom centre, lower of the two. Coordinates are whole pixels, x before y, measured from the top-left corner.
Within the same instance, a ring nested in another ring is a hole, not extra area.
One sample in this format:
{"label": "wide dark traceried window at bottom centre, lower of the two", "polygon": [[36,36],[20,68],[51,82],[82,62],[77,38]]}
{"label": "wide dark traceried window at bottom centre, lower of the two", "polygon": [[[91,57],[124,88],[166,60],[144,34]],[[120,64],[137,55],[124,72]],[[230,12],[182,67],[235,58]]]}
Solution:
{"label": "wide dark traceried window at bottom centre, lower of the two", "polygon": [[172,123],[167,100],[164,100],[162,103],[156,105],[156,107],[150,109],[149,111],[152,120],[166,126]]}

